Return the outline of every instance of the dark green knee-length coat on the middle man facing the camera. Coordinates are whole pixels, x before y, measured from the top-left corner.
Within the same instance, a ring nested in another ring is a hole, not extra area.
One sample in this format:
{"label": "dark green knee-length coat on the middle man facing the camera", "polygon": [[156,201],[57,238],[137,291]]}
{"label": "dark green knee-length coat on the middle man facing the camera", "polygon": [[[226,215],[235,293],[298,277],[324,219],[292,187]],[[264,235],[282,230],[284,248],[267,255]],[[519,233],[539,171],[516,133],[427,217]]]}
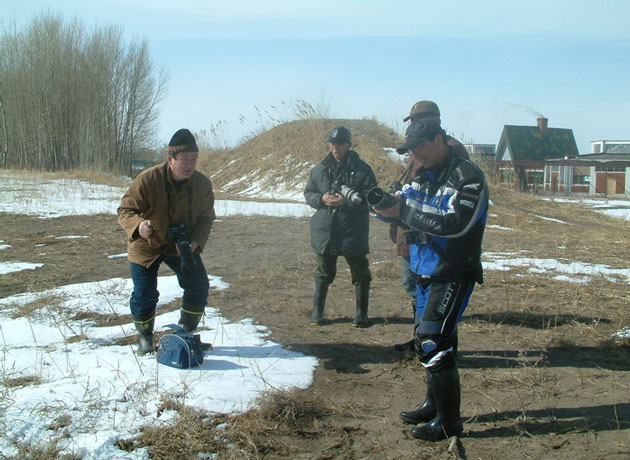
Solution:
{"label": "dark green knee-length coat on the middle man facing the camera", "polygon": [[[311,216],[311,246],[317,254],[344,256],[365,255],[370,252],[368,237],[370,215],[365,195],[376,187],[376,177],[370,165],[349,150],[338,167],[337,160],[328,153],[321,163],[311,169],[304,197],[317,211]],[[330,207],[322,203],[322,196],[332,193],[333,182],[347,185],[359,192],[359,205],[344,199],[343,206]]]}

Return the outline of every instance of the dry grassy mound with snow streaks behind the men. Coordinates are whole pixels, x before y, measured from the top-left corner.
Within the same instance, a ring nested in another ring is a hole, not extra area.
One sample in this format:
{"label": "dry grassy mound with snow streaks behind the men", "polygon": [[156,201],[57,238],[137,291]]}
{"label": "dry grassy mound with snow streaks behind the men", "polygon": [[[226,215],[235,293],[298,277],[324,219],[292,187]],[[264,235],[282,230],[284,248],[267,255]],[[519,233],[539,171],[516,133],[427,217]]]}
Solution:
{"label": "dry grassy mound with snow streaks behind the men", "polygon": [[367,161],[381,185],[402,170],[384,148],[402,139],[371,119],[307,119],[282,123],[234,149],[202,152],[198,169],[219,192],[250,198],[302,200],[310,169],[327,153],[326,137],[336,126],[352,132],[352,149]]}

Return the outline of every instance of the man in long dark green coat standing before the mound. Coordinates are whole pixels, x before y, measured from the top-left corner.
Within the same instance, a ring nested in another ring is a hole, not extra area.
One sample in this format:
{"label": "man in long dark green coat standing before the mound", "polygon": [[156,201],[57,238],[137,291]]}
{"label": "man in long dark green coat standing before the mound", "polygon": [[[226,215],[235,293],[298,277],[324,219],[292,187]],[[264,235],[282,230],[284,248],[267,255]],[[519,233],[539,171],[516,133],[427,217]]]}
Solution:
{"label": "man in long dark green coat standing before the mound", "polygon": [[330,152],[310,173],[304,197],[316,209],[311,217],[311,246],[317,254],[311,325],[324,324],[328,286],[337,274],[337,257],[344,256],[355,285],[356,314],[352,326],[368,325],[372,276],[367,254],[370,219],[365,194],[376,186],[370,165],[350,150],[350,131],[340,126],[328,136]]}

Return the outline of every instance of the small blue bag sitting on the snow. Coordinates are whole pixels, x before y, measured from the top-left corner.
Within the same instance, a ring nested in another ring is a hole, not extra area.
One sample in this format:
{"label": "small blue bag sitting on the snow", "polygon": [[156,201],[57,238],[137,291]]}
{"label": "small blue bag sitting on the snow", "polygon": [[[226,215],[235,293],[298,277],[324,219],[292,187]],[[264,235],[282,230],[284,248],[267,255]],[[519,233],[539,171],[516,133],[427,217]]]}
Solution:
{"label": "small blue bag sitting on the snow", "polygon": [[203,364],[204,353],[199,335],[193,335],[181,326],[169,324],[174,334],[164,334],[158,342],[158,363],[177,369],[189,369]]}

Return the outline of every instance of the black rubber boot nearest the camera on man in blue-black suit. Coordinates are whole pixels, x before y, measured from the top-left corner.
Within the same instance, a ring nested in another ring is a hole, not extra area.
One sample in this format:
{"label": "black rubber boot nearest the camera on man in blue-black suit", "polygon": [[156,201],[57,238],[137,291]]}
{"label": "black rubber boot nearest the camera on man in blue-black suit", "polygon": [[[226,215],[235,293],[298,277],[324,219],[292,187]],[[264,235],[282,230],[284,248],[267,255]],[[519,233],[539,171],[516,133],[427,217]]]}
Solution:
{"label": "black rubber boot nearest the camera on man in blue-black suit", "polygon": [[432,388],[435,398],[436,415],[426,425],[411,429],[411,436],[426,441],[440,441],[450,436],[459,436],[464,426],[459,416],[460,386],[459,372],[455,359],[447,368],[433,372]]}

